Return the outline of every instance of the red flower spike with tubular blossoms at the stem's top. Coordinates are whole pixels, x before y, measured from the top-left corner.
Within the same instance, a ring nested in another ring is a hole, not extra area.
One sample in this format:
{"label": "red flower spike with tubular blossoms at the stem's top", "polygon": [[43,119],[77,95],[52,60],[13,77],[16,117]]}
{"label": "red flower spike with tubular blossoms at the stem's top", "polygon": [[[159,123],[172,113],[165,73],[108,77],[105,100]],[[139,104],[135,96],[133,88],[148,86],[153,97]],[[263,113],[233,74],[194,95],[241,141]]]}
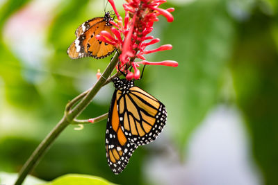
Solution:
{"label": "red flower spike with tubular blossoms at the stem's top", "polygon": [[[170,67],[177,67],[178,63],[172,60],[166,60],[163,62],[148,62],[145,60],[145,56],[149,53],[155,53],[158,51],[172,49],[171,44],[165,44],[158,47],[158,49],[145,50],[147,46],[155,44],[160,41],[158,38],[148,36],[152,33],[153,25],[155,21],[158,21],[158,15],[163,15],[167,21],[172,22],[174,17],[170,12],[174,11],[174,8],[168,8],[166,10],[158,8],[165,0],[126,0],[124,3],[124,10],[126,11],[124,22],[122,17],[117,12],[115,3],[113,0],[108,0],[113,7],[117,19],[111,21],[111,24],[115,26],[112,28],[113,37],[106,31],[101,31],[100,35],[97,35],[97,39],[112,44],[120,52],[120,64],[118,70],[126,71],[126,79],[138,79],[140,78],[140,71],[138,69],[140,64],[144,65],[164,65]],[[122,39],[124,37],[124,39]],[[149,42],[145,42],[150,39]],[[136,58],[141,59],[140,62],[135,62]],[[131,72],[127,67],[133,67]]]}

